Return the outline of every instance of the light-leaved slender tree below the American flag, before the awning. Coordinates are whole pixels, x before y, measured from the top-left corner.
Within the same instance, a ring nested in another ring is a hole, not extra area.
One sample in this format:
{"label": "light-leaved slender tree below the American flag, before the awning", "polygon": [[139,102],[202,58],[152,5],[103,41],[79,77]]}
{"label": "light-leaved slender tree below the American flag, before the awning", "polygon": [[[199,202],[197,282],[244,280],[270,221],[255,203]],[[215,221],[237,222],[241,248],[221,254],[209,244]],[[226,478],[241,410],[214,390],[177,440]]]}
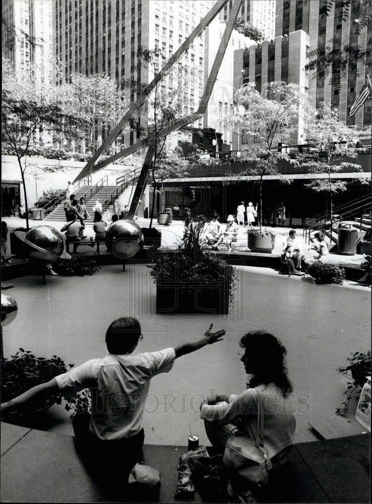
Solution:
{"label": "light-leaved slender tree below the American flag, before the awning", "polygon": [[[343,168],[362,172],[360,165],[343,158],[355,159],[358,154],[355,145],[359,132],[353,126],[347,126],[338,121],[338,110],[322,103],[316,120],[309,124],[309,140],[317,148],[317,153],[305,153],[301,156],[301,166],[307,168],[308,173],[326,175],[326,178],[315,178],[305,184],[317,193],[328,193],[330,197],[330,218],[333,217],[333,196],[339,191],[346,191],[347,181],[334,178]],[[319,152],[322,157],[319,157]],[[356,179],[356,177],[355,177]],[[358,178],[367,183],[366,178]]]}

